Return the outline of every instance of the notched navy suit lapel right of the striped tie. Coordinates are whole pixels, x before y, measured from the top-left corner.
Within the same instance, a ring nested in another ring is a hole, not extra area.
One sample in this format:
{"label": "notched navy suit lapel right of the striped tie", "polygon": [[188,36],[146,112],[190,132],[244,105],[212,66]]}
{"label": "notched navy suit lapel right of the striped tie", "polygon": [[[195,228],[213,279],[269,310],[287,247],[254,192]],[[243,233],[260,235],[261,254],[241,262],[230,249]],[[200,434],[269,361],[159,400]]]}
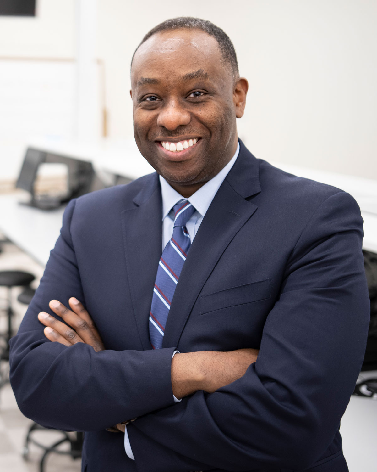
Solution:
{"label": "notched navy suit lapel right of the striped tie", "polygon": [[178,346],[205,281],[230,241],[257,209],[245,198],[260,190],[258,161],[240,142],[238,159],[213,198],[180,273],[162,347]]}

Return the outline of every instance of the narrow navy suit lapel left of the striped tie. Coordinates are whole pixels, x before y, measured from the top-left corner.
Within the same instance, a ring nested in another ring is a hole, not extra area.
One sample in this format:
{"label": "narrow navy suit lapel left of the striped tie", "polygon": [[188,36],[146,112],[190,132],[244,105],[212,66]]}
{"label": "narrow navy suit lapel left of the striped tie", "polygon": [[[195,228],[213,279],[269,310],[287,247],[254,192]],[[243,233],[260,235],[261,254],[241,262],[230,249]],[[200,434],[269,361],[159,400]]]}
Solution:
{"label": "narrow navy suit lapel left of the striped tie", "polygon": [[148,319],[162,247],[162,202],[158,175],[148,176],[134,206],[122,212],[124,251],[133,313],[144,350],[151,349]]}

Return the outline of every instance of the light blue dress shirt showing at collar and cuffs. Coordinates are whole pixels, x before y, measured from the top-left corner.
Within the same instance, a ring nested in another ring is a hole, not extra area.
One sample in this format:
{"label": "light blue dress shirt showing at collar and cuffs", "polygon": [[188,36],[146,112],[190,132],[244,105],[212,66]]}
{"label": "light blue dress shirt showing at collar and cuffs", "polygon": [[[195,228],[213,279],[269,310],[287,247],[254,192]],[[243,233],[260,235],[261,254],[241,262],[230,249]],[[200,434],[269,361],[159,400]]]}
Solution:
{"label": "light blue dress shirt showing at collar and cuffs", "polygon": [[[199,188],[192,194],[187,200],[191,203],[192,206],[196,208],[196,211],[192,214],[191,218],[186,223],[186,228],[188,230],[188,235],[190,236],[191,243],[194,240],[195,235],[197,234],[197,230],[199,229],[200,223],[203,221],[205,213],[207,212],[213,197],[216,195],[217,191],[220,188],[224,178],[228,175],[229,170],[233,167],[236,159],[238,157],[239,152],[239,143],[237,144],[237,151],[235,152],[234,156],[231,160],[229,160],[228,164],[221,169],[221,171],[215,175],[211,180],[206,182],[202,187]],[[182,200],[184,197],[180,195],[176,190],[170,186],[164,177],[160,176],[160,184],[161,184],[161,196],[162,196],[162,251],[164,252],[164,248],[166,244],[170,241],[170,238],[173,234],[173,226],[174,226],[174,212],[173,206]],[[178,351],[174,351],[173,356]],[[180,402],[177,398],[174,397],[174,402]],[[127,427],[124,431],[124,449],[126,454],[130,459],[135,460],[130,440],[127,434]]]}

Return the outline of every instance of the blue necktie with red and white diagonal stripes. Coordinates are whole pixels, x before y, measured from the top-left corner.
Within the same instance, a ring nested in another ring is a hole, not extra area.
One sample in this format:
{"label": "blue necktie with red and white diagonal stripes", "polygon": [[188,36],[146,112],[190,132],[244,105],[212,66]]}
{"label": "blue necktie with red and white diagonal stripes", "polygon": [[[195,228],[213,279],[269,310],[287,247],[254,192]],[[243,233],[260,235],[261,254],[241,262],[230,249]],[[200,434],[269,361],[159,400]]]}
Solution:
{"label": "blue necktie with red and white diagonal stripes", "polygon": [[172,239],[166,244],[158,263],[152,306],[149,314],[149,339],[153,349],[160,349],[164,338],[166,320],[170,305],[191,246],[186,223],[195,208],[188,200],[181,200],[173,206],[174,228]]}

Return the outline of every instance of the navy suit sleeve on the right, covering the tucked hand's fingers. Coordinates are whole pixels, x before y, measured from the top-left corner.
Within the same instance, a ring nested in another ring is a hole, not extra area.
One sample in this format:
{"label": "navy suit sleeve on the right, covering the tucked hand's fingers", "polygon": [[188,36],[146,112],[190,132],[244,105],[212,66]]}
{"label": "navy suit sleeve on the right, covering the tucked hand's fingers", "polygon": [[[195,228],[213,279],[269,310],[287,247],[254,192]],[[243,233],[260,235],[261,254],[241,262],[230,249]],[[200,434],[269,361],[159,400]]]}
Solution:
{"label": "navy suit sleeve on the right, covering the tucked hand's fingers", "polygon": [[[330,196],[308,216],[268,314],[257,361],[213,394],[128,426],[138,472],[301,470],[331,444],[363,361],[369,297],[362,219]],[[146,452],[147,451],[147,452]]]}

